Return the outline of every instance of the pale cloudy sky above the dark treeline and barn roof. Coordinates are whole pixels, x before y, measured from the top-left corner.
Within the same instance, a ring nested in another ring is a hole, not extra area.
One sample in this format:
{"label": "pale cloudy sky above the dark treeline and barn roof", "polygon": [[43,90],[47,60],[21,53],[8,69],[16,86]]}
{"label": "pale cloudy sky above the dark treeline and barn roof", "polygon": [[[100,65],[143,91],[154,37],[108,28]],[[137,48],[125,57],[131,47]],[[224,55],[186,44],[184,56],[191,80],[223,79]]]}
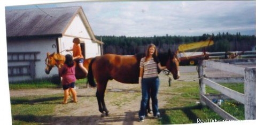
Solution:
{"label": "pale cloudy sky above the dark treeline and barn roof", "polygon": [[[82,6],[95,35],[255,35],[256,28],[255,1],[72,2],[37,6]],[[5,7],[22,8],[36,6]]]}

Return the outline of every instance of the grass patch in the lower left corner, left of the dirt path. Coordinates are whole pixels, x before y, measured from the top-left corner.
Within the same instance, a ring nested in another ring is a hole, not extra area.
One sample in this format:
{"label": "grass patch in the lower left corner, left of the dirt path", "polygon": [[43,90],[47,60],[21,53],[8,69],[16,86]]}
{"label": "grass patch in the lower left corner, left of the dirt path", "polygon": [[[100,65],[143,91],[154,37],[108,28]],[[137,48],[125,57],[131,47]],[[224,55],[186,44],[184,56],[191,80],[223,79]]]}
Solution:
{"label": "grass patch in the lower left corner, left of the dirt path", "polygon": [[11,97],[12,124],[49,124],[63,95]]}

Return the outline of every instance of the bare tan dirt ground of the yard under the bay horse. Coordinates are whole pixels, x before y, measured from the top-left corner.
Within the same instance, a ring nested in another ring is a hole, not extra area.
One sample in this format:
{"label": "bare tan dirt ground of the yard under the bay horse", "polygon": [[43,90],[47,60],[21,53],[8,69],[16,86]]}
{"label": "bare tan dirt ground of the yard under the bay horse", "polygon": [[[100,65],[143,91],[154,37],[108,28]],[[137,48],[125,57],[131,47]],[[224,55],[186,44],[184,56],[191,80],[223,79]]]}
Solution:
{"label": "bare tan dirt ground of the yard under the bay horse", "polygon": [[[234,77],[234,74],[219,72],[217,70],[206,69],[207,75],[220,77],[223,74]],[[180,81],[198,81],[196,66],[180,66]],[[182,75],[185,74],[185,75]],[[168,83],[168,77],[160,73],[160,88]],[[162,84],[162,82],[165,82]],[[175,89],[175,88],[172,88]],[[120,90],[120,91],[119,91]],[[95,96],[96,88],[77,88],[77,103],[67,105],[57,105],[53,123],[50,124],[156,124],[157,119],[146,118],[144,122],[138,122],[138,110],[141,101],[141,91],[138,84],[121,84],[115,80],[108,82],[105,103],[110,116],[102,118],[98,111],[98,103]],[[10,90],[11,97],[21,97],[28,95],[52,95],[63,93],[62,89],[26,89]],[[171,93],[171,92],[170,92]],[[175,94],[159,94],[159,109],[167,103],[165,98],[175,96]],[[129,98],[127,98],[129,97]],[[131,99],[130,99],[131,98]],[[128,101],[127,101],[128,99]]]}

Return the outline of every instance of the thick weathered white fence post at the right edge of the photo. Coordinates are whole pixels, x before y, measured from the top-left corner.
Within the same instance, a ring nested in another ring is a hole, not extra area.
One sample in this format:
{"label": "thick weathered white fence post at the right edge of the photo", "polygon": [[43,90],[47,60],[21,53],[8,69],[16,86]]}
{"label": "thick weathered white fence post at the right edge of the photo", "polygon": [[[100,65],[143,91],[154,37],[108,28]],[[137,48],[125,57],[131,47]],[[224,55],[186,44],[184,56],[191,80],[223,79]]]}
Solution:
{"label": "thick weathered white fence post at the right edge of the photo", "polygon": [[256,68],[246,68],[244,76],[244,115],[246,120],[256,119]]}

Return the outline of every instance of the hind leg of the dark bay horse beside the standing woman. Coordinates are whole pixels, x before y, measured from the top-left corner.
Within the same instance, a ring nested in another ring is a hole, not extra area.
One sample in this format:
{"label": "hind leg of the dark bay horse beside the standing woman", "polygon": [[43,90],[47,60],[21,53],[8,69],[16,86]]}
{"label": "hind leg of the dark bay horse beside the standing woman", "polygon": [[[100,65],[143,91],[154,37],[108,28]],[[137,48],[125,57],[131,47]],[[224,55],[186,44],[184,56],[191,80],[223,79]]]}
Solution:
{"label": "hind leg of the dark bay horse beside the standing woman", "polygon": [[98,99],[99,111],[102,113],[105,112],[106,116],[108,116],[108,110],[104,101],[104,96],[105,96],[107,81],[108,80],[104,82],[98,82],[98,85],[97,85],[97,99]]}

